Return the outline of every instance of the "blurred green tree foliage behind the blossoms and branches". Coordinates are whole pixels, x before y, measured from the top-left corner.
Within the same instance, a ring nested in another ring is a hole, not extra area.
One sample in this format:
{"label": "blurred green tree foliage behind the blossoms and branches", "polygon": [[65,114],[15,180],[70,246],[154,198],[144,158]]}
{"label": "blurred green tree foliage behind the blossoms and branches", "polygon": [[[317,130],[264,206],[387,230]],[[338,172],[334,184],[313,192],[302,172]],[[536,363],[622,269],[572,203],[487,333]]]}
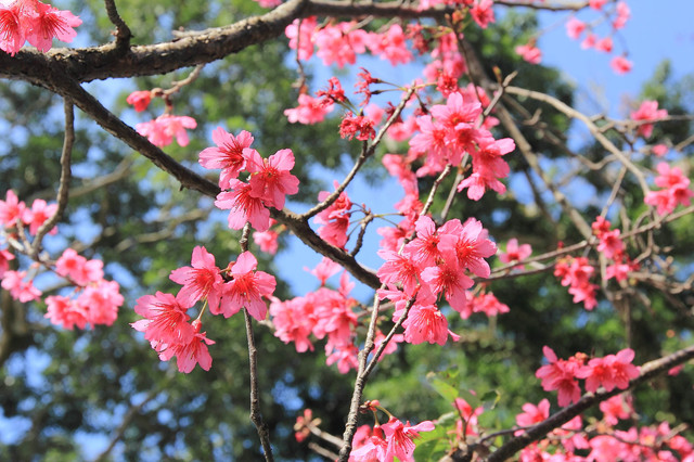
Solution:
{"label": "blurred green tree foliage behind the blossoms and branches", "polygon": [[[73,2],[72,7],[85,20],[80,40],[100,43],[110,39],[113,26],[103,2]],[[167,40],[179,27],[216,27],[262,11],[250,0],[121,0],[118,8],[134,33],[134,43]],[[503,75],[517,69],[515,86],[538,89],[571,104],[574,89],[561,80],[557,70],[527,65],[513,51],[513,46],[531,35],[536,26],[531,15],[509,13],[494,27],[484,33],[472,28],[466,37],[489,64],[490,75],[491,66],[498,66]],[[134,125],[156,117],[163,107],[155,102],[146,113],[136,114],[125,104],[130,91],[167,88],[187,75],[181,70],[132,81],[93,82],[87,88],[103,95],[104,104]],[[219,125],[232,132],[246,129],[254,133],[254,146],[265,156],[283,147],[294,151],[294,174],[301,180],[298,201],[313,201],[327,181],[312,177],[312,168],[340,166],[346,156],[356,153],[359,143],[340,140],[337,121],[317,126],[287,123],[283,111],[296,105],[296,78],[293,56],[282,40],[206,66],[197,80],[174,97],[175,113],[194,117],[198,128],[191,132],[189,146],[171,145],[167,152],[204,174],[196,166],[197,153],[211,144],[211,130]],[[693,80],[672,81],[665,63],[655,69],[642,97],[657,99],[670,114],[691,114],[693,94]],[[524,106],[530,114],[540,108],[530,101]],[[551,127],[548,130],[569,131],[571,126],[565,116],[547,106],[541,110]],[[0,132],[5,140],[0,145],[0,184],[3,190],[13,189],[26,202],[51,200],[60,177],[62,102],[42,89],[0,81]],[[526,118],[512,113],[518,120]],[[682,140],[691,132],[689,123],[660,124],[654,138]],[[547,165],[561,169],[563,163],[570,162],[564,151],[548,141],[542,129],[525,126],[524,133]],[[500,129],[496,134],[506,136]],[[597,145],[571,147],[589,158],[603,155]],[[510,155],[507,161],[515,176],[536,181],[543,190],[520,155]],[[205,245],[219,266],[235,259],[237,235],[227,229],[224,214],[214,211],[209,198],[180,191],[176,181],[81,114],[73,162],[73,193],[65,223],[60,226],[61,238],[51,241],[54,252],[74,245],[87,257],[102,258],[107,274],[121,284],[126,303],[113,326],[72,332],[50,325],[42,318],[44,306],[21,306],[2,292],[2,316],[12,318],[10,324],[2,325],[12,329],[2,332],[11,338],[11,352],[0,368],[1,421],[10,431],[3,429],[0,438],[0,459],[94,458],[113,440],[115,448],[103,454],[105,460],[257,460],[259,445],[248,419],[248,360],[242,318],[206,318],[208,336],[217,342],[210,348],[213,368],[209,372],[196,368],[190,374],[178,373],[175,364],[162,363],[129,325],[137,319],[132,308],[138,297],[176,290],[168,274],[190,264],[195,245]],[[371,175],[380,178],[374,171]],[[612,187],[597,174],[586,175],[582,181],[595,196]],[[422,180],[421,190],[426,191],[428,185],[430,182]],[[639,203],[628,214],[641,213]],[[434,210],[441,206],[437,203]],[[515,236],[530,243],[539,254],[556,248],[560,241],[581,239],[558,211],[550,208],[549,216],[542,215],[536,205],[519,201],[511,190],[503,196],[487,194],[479,202],[457,201],[450,217],[476,217],[498,243]],[[590,201],[582,211],[589,222],[600,213]],[[692,226],[689,217],[665,226],[657,234],[664,245],[677,243],[670,255],[690,272]],[[282,275],[272,258],[256,255],[262,269]],[[639,286],[650,306],[630,299],[631,319],[626,323],[626,313],[615,316],[615,307],[607,301],[587,313],[582,306],[571,303],[566,288],[550,272],[494,281],[489,290],[510,306],[509,313],[498,319],[475,315],[470,320],[451,316],[451,329],[462,336],[460,343],[449,343],[445,348],[419,345],[400,349],[381,363],[364,398],[381,400],[402,420],[435,419],[452,411],[452,407],[435,392],[426,375],[430,371],[457,371],[451,383],[462,394],[498,394],[497,407],[480,421],[491,428],[503,428],[515,423],[523,403],[537,403],[548,397],[534,378],[543,345],[551,345],[564,358],[576,351],[602,356],[627,346],[628,325],[635,362],[641,363],[691,342],[691,308],[676,308],[677,304],[691,307],[691,293],[673,301],[653,287]],[[285,299],[303,294],[291,294],[280,281],[275,295]],[[267,326],[258,325],[256,337],[262,413],[273,435],[277,458],[316,458],[306,445],[295,441],[295,418],[304,408],[311,408],[324,431],[342,435],[351,381],[335,368],[325,367],[321,344],[316,352],[299,355]],[[655,419],[694,425],[694,398],[686,393],[693,382],[691,369],[685,369],[677,377],[657,380],[635,390],[640,423],[653,423]],[[555,398],[550,400],[555,409]]]}

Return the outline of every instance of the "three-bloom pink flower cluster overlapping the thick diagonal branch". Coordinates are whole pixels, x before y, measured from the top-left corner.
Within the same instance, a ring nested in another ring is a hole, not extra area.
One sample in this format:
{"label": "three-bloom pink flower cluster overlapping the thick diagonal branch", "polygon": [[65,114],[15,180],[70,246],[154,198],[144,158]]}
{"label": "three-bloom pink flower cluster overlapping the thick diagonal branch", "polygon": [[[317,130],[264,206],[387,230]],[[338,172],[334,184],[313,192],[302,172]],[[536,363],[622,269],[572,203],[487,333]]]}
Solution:
{"label": "three-bloom pink flower cluster overlapping the thick diagonal branch", "polygon": [[[292,150],[280,150],[269,158],[262,158],[250,149],[253,136],[242,131],[237,137],[219,127],[213,133],[217,147],[200,153],[200,164],[205,168],[221,168],[215,205],[229,211],[229,228],[240,230],[246,222],[258,231],[270,228],[268,207],[282,209],[285,196],[298,192],[299,180],[290,170],[294,168]],[[248,182],[239,180],[241,172],[249,174]]]}

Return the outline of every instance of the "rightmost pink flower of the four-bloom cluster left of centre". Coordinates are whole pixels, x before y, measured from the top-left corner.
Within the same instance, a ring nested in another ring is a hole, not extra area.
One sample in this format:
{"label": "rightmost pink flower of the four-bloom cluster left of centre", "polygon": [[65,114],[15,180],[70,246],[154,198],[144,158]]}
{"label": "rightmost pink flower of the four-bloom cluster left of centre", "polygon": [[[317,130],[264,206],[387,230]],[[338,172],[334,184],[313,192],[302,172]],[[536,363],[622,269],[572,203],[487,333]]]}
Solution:
{"label": "rightmost pink flower of the four-bloom cluster left of centre", "polygon": [[229,318],[241,308],[246,308],[248,315],[262,321],[268,311],[262,297],[272,295],[277,281],[265,271],[255,271],[257,266],[258,260],[250,252],[239,255],[236,262],[229,270],[231,281],[223,285],[219,309],[214,309],[210,305],[210,312]]}

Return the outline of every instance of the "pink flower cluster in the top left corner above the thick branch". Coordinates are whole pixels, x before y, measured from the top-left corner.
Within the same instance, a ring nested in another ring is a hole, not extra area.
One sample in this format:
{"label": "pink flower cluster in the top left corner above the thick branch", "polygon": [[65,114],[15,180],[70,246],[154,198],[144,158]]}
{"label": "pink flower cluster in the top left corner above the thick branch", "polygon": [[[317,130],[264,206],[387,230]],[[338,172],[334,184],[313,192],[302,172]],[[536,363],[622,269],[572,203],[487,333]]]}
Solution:
{"label": "pink flower cluster in the top left corner above the thick branch", "polygon": [[82,21],[67,10],[57,10],[38,0],[14,0],[0,4],[0,49],[15,55],[25,41],[42,52],[53,38],[69,43]]}

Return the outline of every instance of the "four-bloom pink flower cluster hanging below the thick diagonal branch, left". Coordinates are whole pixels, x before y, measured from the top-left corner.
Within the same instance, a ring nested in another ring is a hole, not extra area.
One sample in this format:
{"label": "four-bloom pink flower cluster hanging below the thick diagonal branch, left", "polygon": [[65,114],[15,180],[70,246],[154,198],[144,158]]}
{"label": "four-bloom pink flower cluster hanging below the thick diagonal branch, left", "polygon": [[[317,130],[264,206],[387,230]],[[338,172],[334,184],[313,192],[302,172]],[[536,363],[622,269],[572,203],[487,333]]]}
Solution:
{"label": "four-bloom pink flower cluster hanging below the thick diagonal branch, left", "polygon": [[171,271],[169,279],[182,287],[175,296],[157,292],[140,297],[134,311],[144,319],[133,322],[133,329],[144,332],[145,339],[158,352],[162,361],[177,357],[180,372],[189,373],[195,364],[204,370],[211,367],[207,345],[215,342],[201,332],[201,317],[189,323],[188,309],[205,300],[213,315],[229,318],[242,308],[261,321],[267,316],[264,297],[274,292],[277,281],[264,271],[256,271],[258,261],[249,252],[239,255],[236,261],[221,270],[215,256],[203,246],[193,249],[190,267]]}

